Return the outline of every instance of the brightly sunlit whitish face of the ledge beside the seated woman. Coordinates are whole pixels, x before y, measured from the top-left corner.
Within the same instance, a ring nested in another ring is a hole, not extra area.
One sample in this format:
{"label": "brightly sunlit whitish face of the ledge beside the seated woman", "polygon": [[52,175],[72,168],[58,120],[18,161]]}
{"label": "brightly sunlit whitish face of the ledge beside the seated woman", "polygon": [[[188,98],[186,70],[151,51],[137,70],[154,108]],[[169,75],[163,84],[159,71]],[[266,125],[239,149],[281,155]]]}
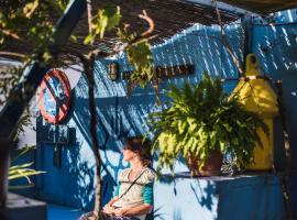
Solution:
{"label": "brightly sunlit whitish face of the ledge beside the seated woman", "polygon": [[[217,185],[212,177],[193,178],[189,173],[164,176],[155,185],[155,220],[216,219],[218,207]],[[169,180],[172,179],[172,180]]]}

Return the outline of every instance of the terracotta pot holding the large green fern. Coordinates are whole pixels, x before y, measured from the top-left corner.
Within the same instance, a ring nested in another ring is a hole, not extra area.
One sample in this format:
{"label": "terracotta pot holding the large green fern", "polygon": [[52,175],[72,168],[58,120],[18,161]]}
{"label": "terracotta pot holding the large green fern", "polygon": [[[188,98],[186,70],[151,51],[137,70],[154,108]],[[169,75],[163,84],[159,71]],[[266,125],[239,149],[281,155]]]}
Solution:
{"label": "terracotta pot holding the large green fern", "polygon": [[187,163],[191,176],[218,176],[221,173],[223,156],[219,150],[210,155],[202,168],[199,168],[199,157],[195,155],[187,156]]}

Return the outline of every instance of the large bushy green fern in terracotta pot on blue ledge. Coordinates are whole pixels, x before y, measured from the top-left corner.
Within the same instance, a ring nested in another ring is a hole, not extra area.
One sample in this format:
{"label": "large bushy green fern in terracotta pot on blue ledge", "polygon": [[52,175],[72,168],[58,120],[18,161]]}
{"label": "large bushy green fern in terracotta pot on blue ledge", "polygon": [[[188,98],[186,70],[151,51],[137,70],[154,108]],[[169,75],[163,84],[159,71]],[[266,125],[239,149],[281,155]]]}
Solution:
{"label": "large bushy green fern in terracotta pot on blue ledge", "polygon": [[158,172],[163,165],[173,170],[179,155],[193,176],[219,174],[226,154],[239,168],[253,162],[255,142],[262,145],[257,130],[267,134],[267,125],[245,110],[237,95],[228,97],[219,78],[205,73],[198,85],[170,86],[168,97],[169,108],[148,119],[153,150],[158,151]]}

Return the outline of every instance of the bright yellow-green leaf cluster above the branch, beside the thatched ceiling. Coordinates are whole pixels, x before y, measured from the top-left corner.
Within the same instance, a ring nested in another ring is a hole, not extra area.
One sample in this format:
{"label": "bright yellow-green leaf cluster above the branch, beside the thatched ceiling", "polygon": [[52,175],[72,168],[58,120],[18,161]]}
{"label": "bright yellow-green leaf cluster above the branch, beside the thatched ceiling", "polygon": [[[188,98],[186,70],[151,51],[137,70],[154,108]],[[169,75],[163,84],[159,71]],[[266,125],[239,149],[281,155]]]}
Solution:
{"label": "bright yellow-green leaf cluster above the branch, beside the thatched ceiling", "polygon": [[84,43],[89,44],[99,36],[103,38],[105,32],[117,28],[121,21],[120,7],[107,4],[98,11],[91,23],[91,33],[85,38]]}

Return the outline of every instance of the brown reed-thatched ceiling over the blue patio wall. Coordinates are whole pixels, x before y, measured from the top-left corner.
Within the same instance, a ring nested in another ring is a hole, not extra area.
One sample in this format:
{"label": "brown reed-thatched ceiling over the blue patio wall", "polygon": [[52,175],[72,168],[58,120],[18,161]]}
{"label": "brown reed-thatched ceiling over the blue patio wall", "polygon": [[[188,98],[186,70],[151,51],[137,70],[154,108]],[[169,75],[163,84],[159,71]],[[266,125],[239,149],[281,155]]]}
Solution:
{"label": "brown reed-thatched ceiling over the blue patio wall", "polygon": [[[151,41],[152,44],[161,43],[195,23],[204,25],[218,24],[216,10],[212,7],[188,3],[182,0],[92,0],[91,2],[92,14],[106,3],[119,4],[121,7],[122,22],[129,23],[131,30],[138,33],[147,29],[147,23],[138,18],[138,14],[145,10],[155,23],[153,35],[156,35],[156,37]],[[58,18],[53,16],[52,19],[57,20]],[[238,14],[221,11],[221,20],[224,24],[238,19]],[[25,36],[26,30],[23,30],[23,33]],[[69,42],[65,47],[84,53],[94,48],[110,52],[119,42],[116,34],[109,32],[105,38],[96,41],[92,46],[84,45],[84,38],[88,34],[86,13],[78,22],[74,33],[77,35],[78,42]],[[33,46],[30,44],[7,43],[1,47],[12,52],[30,53]]]}

